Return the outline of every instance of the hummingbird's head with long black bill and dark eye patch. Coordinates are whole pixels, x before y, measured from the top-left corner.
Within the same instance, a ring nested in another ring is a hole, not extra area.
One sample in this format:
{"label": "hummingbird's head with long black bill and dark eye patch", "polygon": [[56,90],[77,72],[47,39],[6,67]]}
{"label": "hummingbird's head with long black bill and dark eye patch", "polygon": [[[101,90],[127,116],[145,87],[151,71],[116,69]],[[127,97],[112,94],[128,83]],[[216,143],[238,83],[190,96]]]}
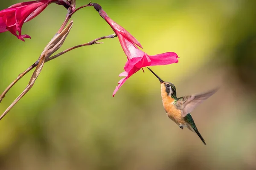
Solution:
{"label": "hummingbird's head with long black bill and dark eye patch", "polygon": [[[148,67],[147,67],[148,68]],[[149,71],[151,71],[157,79],[159,79],[161,83],[161,95],[162,98],[166,96],[171,96],[172,98],[177,98],[176,97],[176,88],[175,85],[172,84],[171,82],[164,82],[160,77],[157,76],[157,74],[154,73],[150,68],[148,68]]]}

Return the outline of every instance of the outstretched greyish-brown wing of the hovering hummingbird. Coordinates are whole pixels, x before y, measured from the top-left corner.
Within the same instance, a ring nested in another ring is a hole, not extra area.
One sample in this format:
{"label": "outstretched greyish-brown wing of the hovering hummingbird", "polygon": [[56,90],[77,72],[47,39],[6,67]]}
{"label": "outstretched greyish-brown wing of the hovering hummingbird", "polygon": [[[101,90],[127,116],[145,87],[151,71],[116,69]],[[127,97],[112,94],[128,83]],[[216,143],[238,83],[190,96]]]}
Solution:
{"label": "outstretched greyish-brown wing of the hovering hummingbird", "polygon": [[181,116],[185,117],[188,113],[191,113],[197,105],[199,105],[201,102],[204,102],[204,100],[215,94],[216,91],[218,91],[218,89],[208,91],[204,94],[180,97],[175,102],[175,106],[177,109],[181,110]]}

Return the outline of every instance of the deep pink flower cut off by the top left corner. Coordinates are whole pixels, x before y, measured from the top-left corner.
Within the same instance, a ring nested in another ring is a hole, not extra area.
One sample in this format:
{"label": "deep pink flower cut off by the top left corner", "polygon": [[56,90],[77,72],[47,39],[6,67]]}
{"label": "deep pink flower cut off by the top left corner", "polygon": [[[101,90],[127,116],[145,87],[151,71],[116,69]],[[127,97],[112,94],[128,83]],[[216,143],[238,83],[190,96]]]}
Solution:
{"label": "deep pink flower cut off by the top left corner", "polygon": [[18,39],[25,41],[24,38],[30,38],[30,36],[21,34],[23,23],[38,16],[50,3],[57,3],[66,8],[70,6],[70,3],[64,0],[35,0],[14,4],[0,11],[0,33],[10,31]]}

